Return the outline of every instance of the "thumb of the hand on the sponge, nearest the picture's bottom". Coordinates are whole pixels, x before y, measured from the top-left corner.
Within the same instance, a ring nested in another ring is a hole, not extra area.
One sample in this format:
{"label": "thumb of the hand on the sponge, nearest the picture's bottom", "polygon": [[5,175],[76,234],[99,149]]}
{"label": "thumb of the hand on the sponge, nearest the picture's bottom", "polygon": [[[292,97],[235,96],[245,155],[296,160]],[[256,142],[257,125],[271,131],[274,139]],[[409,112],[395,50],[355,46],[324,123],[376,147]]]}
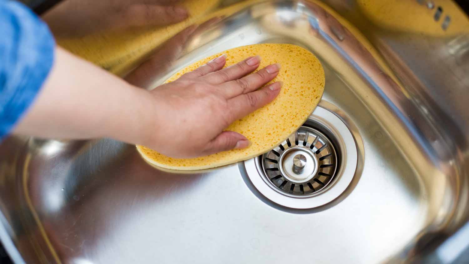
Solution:
{"label": "thumb of the hand on the sponge, nearest the picture's bottom", "polygon": [[250,146],[250,141],[243,135],[234,131],[223,131],[208,143],[205,150],[207,155],[229,151],[232,149],[244,149]]}

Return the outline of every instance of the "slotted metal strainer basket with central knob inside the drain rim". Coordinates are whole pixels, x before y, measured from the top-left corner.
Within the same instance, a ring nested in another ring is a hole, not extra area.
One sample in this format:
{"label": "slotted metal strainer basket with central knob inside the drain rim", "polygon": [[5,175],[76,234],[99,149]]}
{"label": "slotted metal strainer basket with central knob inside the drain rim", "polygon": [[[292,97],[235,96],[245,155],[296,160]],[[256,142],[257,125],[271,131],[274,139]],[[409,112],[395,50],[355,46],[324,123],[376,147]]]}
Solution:
{"label": "slotted metal strainer basket with central knob inside the drain rim", "polygon": [[337,169],[333,143],[318,130],[304,126],[261,159],[272,184],[298,196],[323,189]]}

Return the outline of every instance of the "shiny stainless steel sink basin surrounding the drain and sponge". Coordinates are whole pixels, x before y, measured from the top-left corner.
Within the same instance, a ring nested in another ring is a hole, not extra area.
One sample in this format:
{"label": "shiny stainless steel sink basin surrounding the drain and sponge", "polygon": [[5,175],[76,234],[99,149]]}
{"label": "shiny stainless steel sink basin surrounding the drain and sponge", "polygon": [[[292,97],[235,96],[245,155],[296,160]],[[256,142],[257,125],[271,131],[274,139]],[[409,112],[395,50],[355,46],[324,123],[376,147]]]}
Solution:
{"label": "shiny stainless steel sink basin surrounding the drain and sponge", "polygon": [[[432,34],[384,27],[358,2],[220,1],[206,17],[224,18],[146,80],[154,87],[240,45],[310,50],[326,76],[311,126],[340,160],[324,189],[274,190],[259,180],[260,157],[180,173],[110,139],[10,136],[0,145],[9,254],[64,264],[452,262],[469,244],[456,239],[469,229],[469,35],[445,34],[451,23]],[[430,8],[422,2],[415,8]]]}

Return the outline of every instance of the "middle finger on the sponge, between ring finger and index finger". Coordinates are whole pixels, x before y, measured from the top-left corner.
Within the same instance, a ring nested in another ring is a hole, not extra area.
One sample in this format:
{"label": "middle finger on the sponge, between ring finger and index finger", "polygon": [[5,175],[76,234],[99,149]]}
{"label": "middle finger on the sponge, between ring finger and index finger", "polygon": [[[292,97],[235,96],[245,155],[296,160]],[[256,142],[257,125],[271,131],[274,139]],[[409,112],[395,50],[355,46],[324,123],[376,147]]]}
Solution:
{"label": "middle finger on the sponge, between ring finger and index finger", "polygon": [[279,70],[280,64],[271,64],[241,79],[224,83],[220,89],[225,94],[226,98],[234,98],[244,93],[256,91],[259,87],[277,77]]}

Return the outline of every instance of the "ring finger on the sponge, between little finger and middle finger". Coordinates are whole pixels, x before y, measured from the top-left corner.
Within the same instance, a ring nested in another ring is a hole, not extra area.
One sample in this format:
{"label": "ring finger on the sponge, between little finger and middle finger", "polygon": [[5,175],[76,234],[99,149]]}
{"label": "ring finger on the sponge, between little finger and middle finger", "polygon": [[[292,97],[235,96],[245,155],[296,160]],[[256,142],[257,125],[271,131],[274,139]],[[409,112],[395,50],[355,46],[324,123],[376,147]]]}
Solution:
{"label": "ring finger on the sponge, between little finger and middle finger", "polygon": [[207,74],[204,79],[212,84],[220,84],[237,80],[257,69],[260,62],[261,58],[259,56],[249,57],[230,67]]}

